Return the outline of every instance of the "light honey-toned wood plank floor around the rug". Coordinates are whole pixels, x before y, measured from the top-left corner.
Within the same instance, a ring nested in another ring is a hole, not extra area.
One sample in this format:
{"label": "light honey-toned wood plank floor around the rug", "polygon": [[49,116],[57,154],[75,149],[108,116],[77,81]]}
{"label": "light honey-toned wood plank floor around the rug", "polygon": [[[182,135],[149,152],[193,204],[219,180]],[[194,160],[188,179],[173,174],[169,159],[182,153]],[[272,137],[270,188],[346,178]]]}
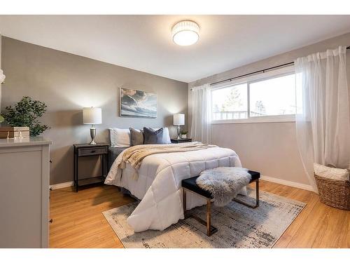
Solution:
{"label": "light honey-toned wood plank floor around the rug", "polygon": [[[350,248],[350,211],[323,205],[311,191],[266,181],[260,189],[307,203],[274,248]],[[123,248],[102,212],[132,201],[108,185],[51,191],[50,248]]]}

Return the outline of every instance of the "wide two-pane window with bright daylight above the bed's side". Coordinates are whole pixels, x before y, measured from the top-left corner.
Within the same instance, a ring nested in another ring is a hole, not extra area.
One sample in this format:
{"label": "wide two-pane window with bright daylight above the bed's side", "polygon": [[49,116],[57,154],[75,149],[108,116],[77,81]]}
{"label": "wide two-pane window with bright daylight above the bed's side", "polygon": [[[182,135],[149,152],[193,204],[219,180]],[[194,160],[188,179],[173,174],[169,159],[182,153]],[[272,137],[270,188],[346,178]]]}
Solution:
{"label": "wide two-pane window with bright daylight above the bed's side", "polygon": [[295,114],[295,74],[260,76],[260,79],[214,88],[211,97],[214,122],[281,120]]}

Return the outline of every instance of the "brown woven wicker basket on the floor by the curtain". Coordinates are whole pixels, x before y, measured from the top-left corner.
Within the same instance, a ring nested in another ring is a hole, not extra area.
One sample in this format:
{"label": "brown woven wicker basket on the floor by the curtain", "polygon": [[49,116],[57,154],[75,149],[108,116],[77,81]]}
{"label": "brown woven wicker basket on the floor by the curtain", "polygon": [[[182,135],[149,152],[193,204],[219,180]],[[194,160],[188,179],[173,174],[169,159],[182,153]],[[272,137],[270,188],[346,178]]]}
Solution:
{"label": "brown woven wicker basket on the floor by the curtain", "polygon": [[350,210],[350,182],[314,175],[321,202],[333,208]]}

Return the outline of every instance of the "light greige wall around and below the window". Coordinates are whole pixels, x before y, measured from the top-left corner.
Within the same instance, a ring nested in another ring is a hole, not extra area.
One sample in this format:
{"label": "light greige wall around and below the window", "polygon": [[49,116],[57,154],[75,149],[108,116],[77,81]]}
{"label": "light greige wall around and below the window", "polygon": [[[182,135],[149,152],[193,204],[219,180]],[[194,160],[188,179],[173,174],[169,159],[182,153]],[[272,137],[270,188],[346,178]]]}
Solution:
{"label": "light greige wall around and below the window", "polygon": [[[190,88],[193,86],[292,62],[295,58],[328,48],[336,48],[339,45],[350,46],[350,33],[189,83],[189,124],[192,111]],[[350,65],[349,51],[346,60],[347,65]],[[350,83],[350,66],[347,67],[347,72]],[[234,149],[240,156],[244,167],[260,171],[263,176],[270,177],[269,180],[310,189],[297,151],[294,122],[214,124],[212,129],[213,143]]]}

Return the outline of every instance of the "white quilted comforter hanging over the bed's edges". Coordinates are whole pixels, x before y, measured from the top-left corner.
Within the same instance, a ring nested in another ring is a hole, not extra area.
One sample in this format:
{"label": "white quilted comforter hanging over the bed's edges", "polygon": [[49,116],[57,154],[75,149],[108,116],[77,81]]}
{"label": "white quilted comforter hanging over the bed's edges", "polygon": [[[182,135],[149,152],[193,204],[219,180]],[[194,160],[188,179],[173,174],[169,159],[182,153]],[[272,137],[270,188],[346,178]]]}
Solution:
{"label": "white quilted comforter hanging over the bed's edges", "polygon": [[[121,153],[123,154],[123,152]],[[117,161],[117,160],[116,160]],[[163,230],[183,219],[181,180],[194,177],[202,170],[219,166],[241,167],[239,157],[227,148],[209,148],[198,151],[153,154],[147,156],[137,171],[139,177],[134,185],[128,187],[128,177],[133,169],[128,163],[121,170],[113,163],[106,177],[106,184],[125,187],[137,198],[142,199],[127,222],[135,232],[147,229]],[[206,203],[204,198],[189,193],[187,208]]]}

